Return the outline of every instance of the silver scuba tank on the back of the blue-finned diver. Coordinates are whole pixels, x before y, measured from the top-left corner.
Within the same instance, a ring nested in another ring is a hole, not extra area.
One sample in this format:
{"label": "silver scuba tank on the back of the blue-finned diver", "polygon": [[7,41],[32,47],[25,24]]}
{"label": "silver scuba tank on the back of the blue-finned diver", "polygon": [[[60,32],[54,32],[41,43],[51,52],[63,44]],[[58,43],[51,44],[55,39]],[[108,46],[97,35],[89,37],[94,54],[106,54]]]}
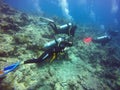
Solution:
{"label": "silver scuba tank on the back of the blue-finned diver", "polygon": [[61,41],[64,41],[64,39],[63,38],[58,38],[58,39],[52,40],[52,41],[44,44],[43,48],[44,49],[49,49],[51,47],[54,47],[56,44],[60,43]]}

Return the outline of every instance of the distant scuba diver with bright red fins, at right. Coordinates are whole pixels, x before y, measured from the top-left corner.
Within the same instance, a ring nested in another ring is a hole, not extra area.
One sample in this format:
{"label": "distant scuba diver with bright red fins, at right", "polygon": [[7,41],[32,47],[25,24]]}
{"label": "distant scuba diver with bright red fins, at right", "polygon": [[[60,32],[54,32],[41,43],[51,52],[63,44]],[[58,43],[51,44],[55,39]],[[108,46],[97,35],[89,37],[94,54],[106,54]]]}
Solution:
{"label": "distant scuba diver with bright red fins, at right", "polygon": [[85,43],[90,43],[91,41],[93,43],[100,43],[101,45],[106,45],[108,42],[110,42],[112,40],[113,37],[118,35],[118,31],[112,31],[109,30],[105,35],[97,37],[97,38],[91,38],[91,37],[87,37],[84,38],[84,42]]}

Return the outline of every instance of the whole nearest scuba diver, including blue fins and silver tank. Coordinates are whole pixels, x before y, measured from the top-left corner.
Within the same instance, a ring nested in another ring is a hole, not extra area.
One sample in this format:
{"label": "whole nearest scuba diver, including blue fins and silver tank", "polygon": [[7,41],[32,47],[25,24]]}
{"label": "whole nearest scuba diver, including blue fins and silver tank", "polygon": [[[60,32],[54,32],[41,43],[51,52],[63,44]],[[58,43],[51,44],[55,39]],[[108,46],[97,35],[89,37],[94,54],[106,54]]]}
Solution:
{"label": "whole nearest scuba diver, including blue fins and silver tank", "polygon": [[3,69],[0,70],[0,80],[3,80],[8,73],[15,71],[21,65],[27,63],[41,63],[47,61],[47,59],[52,62],[57,58],[58,54],[64,52],[67,47],[71,47],[72,45],[73,43],[71,41],[65,40],[65,38],[58,38],[48,42],[44,45],[45,52],[38,59],[30,59],[24,62],[18,61],[3,67]]}

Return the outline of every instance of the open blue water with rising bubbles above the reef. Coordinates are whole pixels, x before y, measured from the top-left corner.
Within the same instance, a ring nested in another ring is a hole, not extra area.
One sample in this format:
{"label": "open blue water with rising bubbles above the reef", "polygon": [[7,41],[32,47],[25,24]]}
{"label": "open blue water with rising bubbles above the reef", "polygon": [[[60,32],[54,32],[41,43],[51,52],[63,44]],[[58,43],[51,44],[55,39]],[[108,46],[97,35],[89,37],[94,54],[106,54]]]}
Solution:
{"label": "open blue water with rising bubbles above the reef", "polygon": [[27,13],[70,19],[79,24],[119,26],[119,0],[5,0]]}

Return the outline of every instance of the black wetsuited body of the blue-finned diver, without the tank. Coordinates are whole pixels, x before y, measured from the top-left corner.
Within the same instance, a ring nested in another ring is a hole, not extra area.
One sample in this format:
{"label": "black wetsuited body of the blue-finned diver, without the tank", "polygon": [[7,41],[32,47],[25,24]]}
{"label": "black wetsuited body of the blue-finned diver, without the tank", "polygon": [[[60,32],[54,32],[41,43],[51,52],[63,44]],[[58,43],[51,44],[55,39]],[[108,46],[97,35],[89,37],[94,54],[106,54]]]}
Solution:
{"label": "black wetsuited body of the blue-finned diver, without the tank", "polygon": [[50,59],[50,62],[52,62],[54,59],[57,58],[57,55],[60,52],[64,51],[65,47],[70,47],[72,46],[71,43],[66,42],[66,41],[62,41],[60,44],[57,44],[54,47],[51,47],[50,49],[47,49],[38,59],[31,59],[31,60],[27,60],[24,62],[24,64],[27,63],[41,63],[46,61],[47,59]]}

